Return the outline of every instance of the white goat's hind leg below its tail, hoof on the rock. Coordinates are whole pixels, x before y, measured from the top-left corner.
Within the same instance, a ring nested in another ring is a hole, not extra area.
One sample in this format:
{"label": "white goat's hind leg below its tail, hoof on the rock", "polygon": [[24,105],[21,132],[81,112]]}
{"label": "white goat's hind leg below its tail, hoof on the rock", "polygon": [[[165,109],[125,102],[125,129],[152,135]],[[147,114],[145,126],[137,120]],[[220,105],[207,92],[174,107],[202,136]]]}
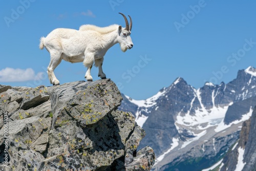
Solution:
{"label": "white goat's hind leg below its tail, hoof on the rock", "polygon": [[48,77],[50,79],[50,82],[54,85],[59,85],[59,80],[56,78],[55,74],[54,74],[54,70],[55,68],[59,65],[59,63],[61,62],[61,54],[60,53],[54,53],[51,54],[51,61],[49,63],[49,66],[47,68],[47,73],[48,73]]}

